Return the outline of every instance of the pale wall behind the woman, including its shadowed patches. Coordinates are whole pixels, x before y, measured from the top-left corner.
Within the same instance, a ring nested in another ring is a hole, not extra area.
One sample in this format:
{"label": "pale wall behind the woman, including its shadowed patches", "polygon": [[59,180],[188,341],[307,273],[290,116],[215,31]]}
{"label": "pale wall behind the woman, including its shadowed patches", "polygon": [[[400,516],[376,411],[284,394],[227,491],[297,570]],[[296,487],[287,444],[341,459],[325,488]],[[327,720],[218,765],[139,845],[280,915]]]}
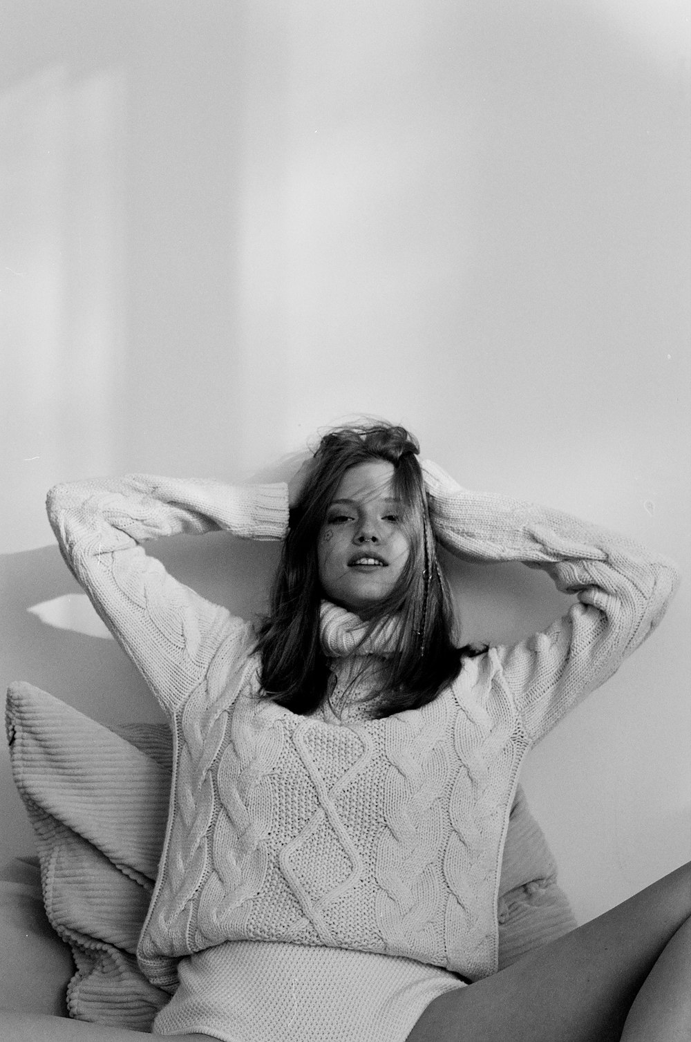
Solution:
{"label": "pale wall behind the woman, including its shadowed patches", "polygon": [[[157,713],[95,636],[50,485],[244,479],[360,413],[688,575],[685,5],[3,9],[2,686]],[[224,537],[159,552],[242,611],[275,562]],[[520,568],[458,581],[469,638],[563,606]],[[688,587],[524,773],[582,920],[689,857]],[[0,784],[10,857],[31,837],[4,752]]]}

